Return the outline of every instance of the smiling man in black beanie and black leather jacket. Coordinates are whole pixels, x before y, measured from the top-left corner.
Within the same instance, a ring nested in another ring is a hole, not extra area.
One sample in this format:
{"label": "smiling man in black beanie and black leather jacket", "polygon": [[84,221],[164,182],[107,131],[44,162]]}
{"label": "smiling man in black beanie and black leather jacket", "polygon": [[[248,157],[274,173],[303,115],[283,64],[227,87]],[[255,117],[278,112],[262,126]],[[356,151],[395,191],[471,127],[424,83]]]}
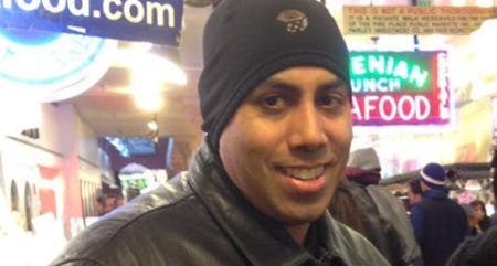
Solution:
{"label": "smiling man in black beanie and black leather jacket", "polygon": [[52,265],[389,265],[326,208],[347,162],[348,51],[315,0],[223,0],[204,29],[207,139],[189,173]]}

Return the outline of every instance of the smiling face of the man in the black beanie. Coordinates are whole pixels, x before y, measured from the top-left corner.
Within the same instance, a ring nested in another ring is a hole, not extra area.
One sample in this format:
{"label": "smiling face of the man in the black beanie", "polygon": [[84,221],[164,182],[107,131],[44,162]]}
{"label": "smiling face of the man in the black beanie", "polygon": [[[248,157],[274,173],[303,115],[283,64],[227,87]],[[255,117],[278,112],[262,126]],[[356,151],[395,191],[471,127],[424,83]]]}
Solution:
{"label": "smiling face of the man in the black beanie", "polygon": [[220,138],[223,166],[248,201],[286,225],[318,219],[342,175],[352,139],[347,85],[319,67],[271,76]]}

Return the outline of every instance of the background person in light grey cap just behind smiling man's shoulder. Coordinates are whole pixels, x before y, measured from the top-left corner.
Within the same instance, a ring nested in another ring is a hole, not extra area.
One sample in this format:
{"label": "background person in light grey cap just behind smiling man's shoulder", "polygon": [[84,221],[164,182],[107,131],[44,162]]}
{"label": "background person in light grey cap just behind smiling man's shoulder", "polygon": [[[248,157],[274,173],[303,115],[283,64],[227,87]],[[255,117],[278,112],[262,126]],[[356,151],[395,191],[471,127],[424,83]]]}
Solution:
{"label": "background person in light grey cap just behind smiling man's shoulder", "polygon": [[376,150],[352,151],[345,172],[329,205],[331,215],[363,234],[390,264],[420,262],[420,248],[404,204],[379,185],[381,166]]}

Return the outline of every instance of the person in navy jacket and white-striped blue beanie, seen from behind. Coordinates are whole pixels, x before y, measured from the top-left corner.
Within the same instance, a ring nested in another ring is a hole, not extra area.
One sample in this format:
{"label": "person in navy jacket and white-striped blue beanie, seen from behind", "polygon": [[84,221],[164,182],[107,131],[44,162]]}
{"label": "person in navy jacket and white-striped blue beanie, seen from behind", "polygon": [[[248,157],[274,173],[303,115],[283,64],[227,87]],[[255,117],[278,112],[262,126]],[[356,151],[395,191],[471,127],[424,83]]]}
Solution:
{"label": "person in navy jacket and white-striped blue beanie, seen from behind", "polygon": [[444,265],[469,233],[466,213],[448,198],[445,169],[427,163],[420,172],[423,200],[411,209],[411,222],[424,266]]}

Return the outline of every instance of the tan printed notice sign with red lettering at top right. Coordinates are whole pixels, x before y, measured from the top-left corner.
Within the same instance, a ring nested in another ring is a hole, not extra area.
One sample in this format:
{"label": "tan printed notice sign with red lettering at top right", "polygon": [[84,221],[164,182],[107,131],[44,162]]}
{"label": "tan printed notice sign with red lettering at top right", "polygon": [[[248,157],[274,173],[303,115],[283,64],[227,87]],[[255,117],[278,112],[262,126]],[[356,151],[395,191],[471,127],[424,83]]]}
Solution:
{"label": "tan printed notice sign with red lettering at top right", "polygon": [[345,6],[345,34],[466,35],[493,15],[480,7]]}

